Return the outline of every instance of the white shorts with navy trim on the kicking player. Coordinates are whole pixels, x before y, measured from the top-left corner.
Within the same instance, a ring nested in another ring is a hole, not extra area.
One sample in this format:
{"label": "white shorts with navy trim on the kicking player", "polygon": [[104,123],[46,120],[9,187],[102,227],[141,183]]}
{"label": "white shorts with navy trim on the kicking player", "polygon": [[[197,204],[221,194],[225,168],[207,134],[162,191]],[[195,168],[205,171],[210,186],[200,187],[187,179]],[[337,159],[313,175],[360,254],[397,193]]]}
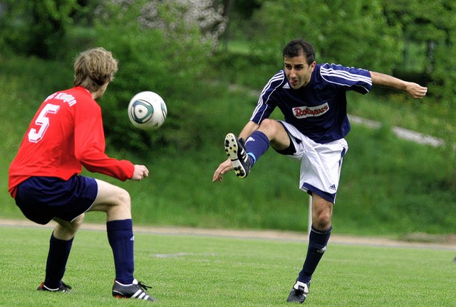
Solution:
{"label": "white shorts with navy trim on the kicking player", "polygon": [[279,122],[284,125],[296,149],[295,154],[286,156],[301,161],[299,188],[335,203],[342,159],[348,151],[347,141],[338,139],[318,144],[301,134],[293,125]]}

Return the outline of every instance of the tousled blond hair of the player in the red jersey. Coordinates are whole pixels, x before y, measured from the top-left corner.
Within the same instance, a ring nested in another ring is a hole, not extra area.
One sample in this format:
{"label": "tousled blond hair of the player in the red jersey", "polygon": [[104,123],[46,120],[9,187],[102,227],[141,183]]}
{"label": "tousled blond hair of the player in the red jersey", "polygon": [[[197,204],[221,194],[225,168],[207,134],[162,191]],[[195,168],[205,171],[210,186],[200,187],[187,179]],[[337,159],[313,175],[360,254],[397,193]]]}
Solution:
{"label": "tousled blond hair of the player in the red jersey", "polygon": [[73,85],[86,88],[89,92],[96,92],[114,79],[118,70],[118,60],[105,48],[93,48],[83,51],[74,63]]}

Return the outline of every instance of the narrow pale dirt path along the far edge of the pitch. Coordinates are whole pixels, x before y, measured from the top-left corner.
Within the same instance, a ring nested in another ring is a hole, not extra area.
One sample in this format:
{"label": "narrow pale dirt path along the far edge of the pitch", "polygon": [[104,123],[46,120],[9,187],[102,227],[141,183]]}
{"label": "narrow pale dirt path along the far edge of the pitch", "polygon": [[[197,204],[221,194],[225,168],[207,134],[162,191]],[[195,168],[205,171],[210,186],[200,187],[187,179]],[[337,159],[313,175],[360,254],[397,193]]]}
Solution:
{"label": "narrow pale dirt path along the far edge of the pitch", "polygon": [[[54,223],[37,225],[28,220],[6,220],[0,218],[0,227],[46,227],[53,228]],[[105,231],[104,224],[84,223],[81,230]],[[219,230],[192,227],[145,227],[135,226],[135,232],[156,235],[197,235],[209,237],[233,237],[244,239],[277,239],[296,242],[306,242],[307,235],[304,232],[289,232],[279,230]],[[410,241],[399,241],[385,237],[358,237],[348,235],[331,235],[332,244],[370,245],[382,247],[415,247],[447,249],[456,251],[456,235],[431,236],[418,234],[410,236]]]}

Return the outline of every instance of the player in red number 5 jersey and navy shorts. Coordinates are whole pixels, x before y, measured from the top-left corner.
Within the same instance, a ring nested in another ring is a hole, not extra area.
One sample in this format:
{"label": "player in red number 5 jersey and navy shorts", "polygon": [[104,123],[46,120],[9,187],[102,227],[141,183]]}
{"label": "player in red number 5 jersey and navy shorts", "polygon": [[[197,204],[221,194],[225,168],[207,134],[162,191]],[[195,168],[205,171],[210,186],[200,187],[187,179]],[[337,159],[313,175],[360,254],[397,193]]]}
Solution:
{"label": "player in red number 5 jersey and navy shorts", "polygon": [[120,181],[141,181],[143,165],[105,154],[101,108],[103,96],[118,70],[118,60],[104,48],[84,51],[74,63],[74,87],[48,96],[28,126],[9,168],[9,193],[33,222],[57,224],[51,235],[46,277],[39,291],[71,290],[62,281],[73,238],[85,212],[106,212],[108,241],[113,249],[113,296],[155,301],[147,286],[133,276],[133,222],[130,195],[123,188],[81,176],[84,168]]}

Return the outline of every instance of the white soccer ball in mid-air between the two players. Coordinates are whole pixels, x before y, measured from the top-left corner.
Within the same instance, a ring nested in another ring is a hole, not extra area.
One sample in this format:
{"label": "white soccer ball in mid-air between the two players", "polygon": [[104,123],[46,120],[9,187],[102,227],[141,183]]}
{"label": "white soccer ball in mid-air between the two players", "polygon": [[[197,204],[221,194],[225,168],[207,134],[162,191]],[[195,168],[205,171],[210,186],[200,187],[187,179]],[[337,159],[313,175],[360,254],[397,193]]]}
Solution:
{"label": "white soccer ball in mid-air between the two players", "polygon": [[155,92],[139,92],[128,104],[128,117],[133,126],[154,130],[162,126],[167,115],[166,104]]}

